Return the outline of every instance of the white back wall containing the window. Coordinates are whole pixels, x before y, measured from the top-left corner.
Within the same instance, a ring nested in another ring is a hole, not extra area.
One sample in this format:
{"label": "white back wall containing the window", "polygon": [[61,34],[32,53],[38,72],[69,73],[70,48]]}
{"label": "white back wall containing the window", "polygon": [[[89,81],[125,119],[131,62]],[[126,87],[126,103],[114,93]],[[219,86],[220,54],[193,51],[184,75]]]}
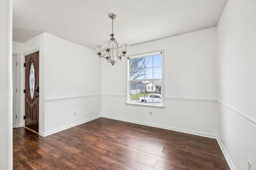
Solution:
{"label": "white back wall containing the window", "polygon": [[214,137],[217,134],[216,27],[132,45],[128,56],[162,49],[166,107],[126,105],[127,59],[114,67],[101,59],[102,116]]}

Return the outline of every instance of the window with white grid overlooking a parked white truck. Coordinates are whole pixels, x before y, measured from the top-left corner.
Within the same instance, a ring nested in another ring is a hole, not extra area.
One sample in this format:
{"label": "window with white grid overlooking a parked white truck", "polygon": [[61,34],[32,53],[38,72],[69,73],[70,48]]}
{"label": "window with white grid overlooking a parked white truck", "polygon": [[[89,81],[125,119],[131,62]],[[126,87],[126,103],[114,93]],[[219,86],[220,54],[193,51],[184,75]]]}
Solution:
{"label": "window with white grid overlooking a parked white truck", "polygon": [[128,59],[128,103],[163,106],[163,51]]}

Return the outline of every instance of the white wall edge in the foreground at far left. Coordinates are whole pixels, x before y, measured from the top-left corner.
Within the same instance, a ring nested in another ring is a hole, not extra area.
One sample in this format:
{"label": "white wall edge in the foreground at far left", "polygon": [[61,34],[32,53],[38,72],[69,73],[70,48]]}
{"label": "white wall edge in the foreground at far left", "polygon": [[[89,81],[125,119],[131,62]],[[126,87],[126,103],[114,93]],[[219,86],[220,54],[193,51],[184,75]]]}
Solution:
{"label": "white wall edge in the foreground at far left", "polygon": [[0,166],[12,170],[12,0],[0,1]]}

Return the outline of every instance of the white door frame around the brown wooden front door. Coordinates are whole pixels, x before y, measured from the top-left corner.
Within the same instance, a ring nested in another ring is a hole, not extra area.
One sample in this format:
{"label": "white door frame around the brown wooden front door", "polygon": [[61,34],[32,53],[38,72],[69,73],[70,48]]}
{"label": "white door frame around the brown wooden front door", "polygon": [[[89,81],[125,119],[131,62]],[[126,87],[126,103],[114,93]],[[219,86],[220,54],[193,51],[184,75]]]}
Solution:
{"label": "white door frame around the brown wooden front door", "polygon": [[[32,53],[35,53],[35,52],[37,52],[37,51],[39,51],[39,87],[40,87],[40,94],[41,95],[39,95],[39,122],[38,122],[38,133],[39,133],[39,135],[41,135],[41,136],[44,136],[44,135],[42,135],[42,132],[41,132],[41,111],[40,111],[40,108],[42,108],[41,106],[42,106],[42,83],[41,83],[41,74],[42,73],[40,73],[41,72],[41,53],[40,53],[40,51],[41,51],[41,49],[40,49],[40,47],[38,47],[38,48],[35,48],[35,49],[32,49],[32,50],[30,50],[30,51],[28,51],[28,52],[26,52],[26,53],[23,53],[23,61],[22,61],[22,63],[25,63],[25,56],[26,55],[30,55],[30,54],[32,54]],[[22,64],[22,67],[23,67],[23,89],[26,89],[26,87],[25,87],[25,76],[26,76],[26,69],[25,69],[25,67],[23,66],[23,64]],[[22,90],[22,98],[21,98],[21,100],[22,100],[22,103],[23,103],[23,114],[22,114],[22,121],[23,121],[23,126],[25,126],[25,119],[23,119],[23,117],[25,116],[25,104],[26,104],[26,101],[25,101],[25,93],[23,92],[23,90]]]}

